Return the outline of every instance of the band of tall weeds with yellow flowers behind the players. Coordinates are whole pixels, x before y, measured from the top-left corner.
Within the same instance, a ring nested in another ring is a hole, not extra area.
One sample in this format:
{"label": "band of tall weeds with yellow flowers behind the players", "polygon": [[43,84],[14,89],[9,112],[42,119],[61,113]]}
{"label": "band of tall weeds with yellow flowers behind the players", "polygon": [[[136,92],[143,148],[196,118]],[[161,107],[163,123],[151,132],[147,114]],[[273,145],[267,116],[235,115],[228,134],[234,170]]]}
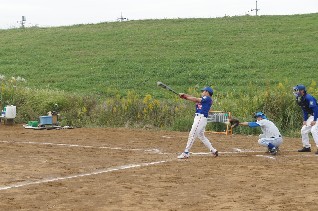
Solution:
{"label": "band of tall weeds with yellow flowers behind the players", "polygon": [[[182,100],[177,95],[165,92],[161,99],[154,99],[150,94],[140,96],[134,89],[122,95],[116,88],[107,89],[108,98],[101,101],[100,96],[75,94],[56,89],[28,88],[24,79],[1,78],[0,103],[17,106],[16,123],[26,124],[39,119],[59,105],[61,125],[82,127],[126,127],[153,128],[173,131],[190,131],[194,119],[195,103]],[[285,84],[285,85],[284,85]],[[286,80],[274,89],[266,86],[265,90],[253,90],[247,93],[221,94],[215,90],[212,97],[212,111],[227,111],[240,122],[252,122],[252,114],[263,112],[274,122],[282,135],[299,136],[302,124],[302,111],[295,103],[293,85]],[[312,81],[308,92],[317,98],[318,89]],[[198,87],[189,88],[188,94],[201,96]],[[223,132],[224,123],[208,123],[206,130]],[[235,134],[258,135],[260,128],[237,127]]]}

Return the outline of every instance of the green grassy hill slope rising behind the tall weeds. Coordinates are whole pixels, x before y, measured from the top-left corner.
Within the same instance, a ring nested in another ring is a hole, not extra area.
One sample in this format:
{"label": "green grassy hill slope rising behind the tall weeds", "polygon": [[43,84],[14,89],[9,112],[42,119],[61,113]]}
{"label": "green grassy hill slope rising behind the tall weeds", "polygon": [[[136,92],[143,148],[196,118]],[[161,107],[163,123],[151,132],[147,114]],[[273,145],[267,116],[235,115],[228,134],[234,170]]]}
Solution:
{"label": "green grassy hill slope rising behind the tall weeds", "polygon": [[317,79],[317,23],[318,13],[0,30],[0,74],[100,95],[110,87],[163,97],[157,81],[222,94],[285,79],[307,86]]}

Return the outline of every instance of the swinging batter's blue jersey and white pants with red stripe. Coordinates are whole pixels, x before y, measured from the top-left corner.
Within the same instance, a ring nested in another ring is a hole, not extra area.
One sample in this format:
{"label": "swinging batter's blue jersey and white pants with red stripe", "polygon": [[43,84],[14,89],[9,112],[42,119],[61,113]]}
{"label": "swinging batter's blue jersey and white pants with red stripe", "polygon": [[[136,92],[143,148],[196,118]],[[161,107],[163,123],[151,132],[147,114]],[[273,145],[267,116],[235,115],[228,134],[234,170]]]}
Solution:
{"label": "swinging batter's blue jersey and white pants with red stripe", "polygon": [[204,145],[209,148],[210,151],[215,153],[215,151],[217,150],[212,147],[209,139],[207,139],[204,135],[207,117],[209,117],[209,111],[213,101],[212,98],[209,96],[201,97],[201,99],[201,102],[196,102],[196,113],[194,122],[191,127],[187,147],[185,148],[184,152],[190,152],[190,148],[192,147],[194,140],[199,137]]}

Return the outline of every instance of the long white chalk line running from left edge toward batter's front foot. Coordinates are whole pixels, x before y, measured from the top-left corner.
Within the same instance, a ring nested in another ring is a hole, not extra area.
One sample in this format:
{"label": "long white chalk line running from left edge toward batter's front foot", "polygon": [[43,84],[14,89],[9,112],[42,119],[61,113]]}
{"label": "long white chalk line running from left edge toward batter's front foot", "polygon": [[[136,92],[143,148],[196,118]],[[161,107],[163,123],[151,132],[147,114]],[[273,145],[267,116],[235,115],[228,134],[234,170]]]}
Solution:
{"label": "long white chalk line running from left edge toward batter's front foot", "polygon": [[139,164],[139,165],[123,166],[123,167],[120,167],[120,168],[97,171],[97,172],[88,173],[88,174],[74,175],[74,176],[67,176],[67,177],[60,177],[60,178],[52,178],[52,179],[45,179],[45,180],[34,181],[34,182],[30,182],[30,183],[25,183],[25,184],[17,184],[17,185],[0,187],[0,190],[9,189],[9,188],[17,188],[17,187],[21,187],[21,186],[25,186],[25,185],[33,185],[33,184],[44,183],[44,182],[51,182],[51,181],[56,181],[56,180],[70,179],[70,178],[80,177],[80,176],[88,176],[88,175],[100,174],[100,173],[105,173],[105,172],[109,172],[109,171],[117,171],[117,170],[121,170],[121,169],[125,169],[125,168],[133,168],[133,167],[139,167],[139,166],[148,166],[148,165],[157,164],[157,163],[163,163],[163,162],[169,162],[169,161],[158,161],[158,162],[151,162],[151,163],[145,163],[145,164]]}

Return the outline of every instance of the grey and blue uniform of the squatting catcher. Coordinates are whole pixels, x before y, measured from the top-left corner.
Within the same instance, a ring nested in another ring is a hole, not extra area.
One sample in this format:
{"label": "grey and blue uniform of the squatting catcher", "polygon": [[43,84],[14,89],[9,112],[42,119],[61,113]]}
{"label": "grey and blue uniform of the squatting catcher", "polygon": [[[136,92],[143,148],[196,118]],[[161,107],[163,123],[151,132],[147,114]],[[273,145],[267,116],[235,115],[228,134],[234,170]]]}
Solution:
{"label": "grey and blue uniform of the squatting catcher", "polygon": [[[260,116],[263,117],[263,116]],[[280,135],[280,131],[276,127],[276,125],[269,121],[265,116],[262,120],[258,120],[257,122],[248,122],[250,128],[260,127],[264,134],[259,135],[258,143],[263,147],[273,148],[279,147],[283,143],[283,138]]]}

